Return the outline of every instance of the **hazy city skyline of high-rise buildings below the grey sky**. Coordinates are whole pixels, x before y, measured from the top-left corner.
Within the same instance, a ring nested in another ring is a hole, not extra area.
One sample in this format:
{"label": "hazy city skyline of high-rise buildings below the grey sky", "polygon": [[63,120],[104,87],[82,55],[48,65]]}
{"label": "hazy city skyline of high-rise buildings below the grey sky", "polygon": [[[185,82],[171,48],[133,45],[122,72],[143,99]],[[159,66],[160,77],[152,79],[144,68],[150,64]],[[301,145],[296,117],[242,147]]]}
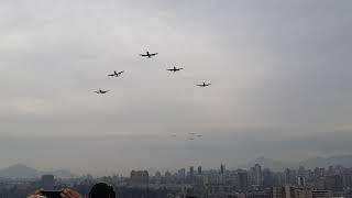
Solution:
{"label": "hazy city skyline of high-rise buildings below the grey sky", "polygon": [[117,197],[123,198],[329,198],[352,197],[352,168],[341,165],[308,169],[285,168],[273,172],[255,164],[248,169],[204,169],[188,166],[177,172],[131,170],[130,176],[112,175],[57,178],[42,175],[32,179],[1,179],[0,198],[25,197],[35,189],[69,187],[84,197],[90,187],[103,182],[111,184]]}

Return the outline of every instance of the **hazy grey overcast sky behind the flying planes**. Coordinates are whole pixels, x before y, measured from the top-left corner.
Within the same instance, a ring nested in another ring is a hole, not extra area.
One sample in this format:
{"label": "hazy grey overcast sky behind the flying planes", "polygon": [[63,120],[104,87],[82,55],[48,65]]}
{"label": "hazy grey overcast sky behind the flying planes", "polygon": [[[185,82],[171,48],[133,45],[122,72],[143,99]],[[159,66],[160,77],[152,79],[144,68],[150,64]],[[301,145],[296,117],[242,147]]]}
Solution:
{"label": "hazy grey overcast sky behind the flying planes", "polygon": [[2,0],[0,167],[108,174],[351,154],[351,7]]}

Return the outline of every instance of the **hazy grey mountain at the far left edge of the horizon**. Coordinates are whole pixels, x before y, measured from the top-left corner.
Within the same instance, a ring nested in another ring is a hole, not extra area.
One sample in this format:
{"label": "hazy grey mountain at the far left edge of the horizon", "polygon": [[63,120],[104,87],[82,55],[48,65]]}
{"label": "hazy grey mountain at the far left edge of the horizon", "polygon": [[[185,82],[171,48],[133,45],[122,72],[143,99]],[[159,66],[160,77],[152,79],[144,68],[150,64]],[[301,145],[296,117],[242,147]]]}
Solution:
{"label": "hazy grey mountain at the far left edge of the horizon", "polygon": [[23,164],[15,164],[0,169],[0,178],[37,178],[40,175],[36,169]]}

